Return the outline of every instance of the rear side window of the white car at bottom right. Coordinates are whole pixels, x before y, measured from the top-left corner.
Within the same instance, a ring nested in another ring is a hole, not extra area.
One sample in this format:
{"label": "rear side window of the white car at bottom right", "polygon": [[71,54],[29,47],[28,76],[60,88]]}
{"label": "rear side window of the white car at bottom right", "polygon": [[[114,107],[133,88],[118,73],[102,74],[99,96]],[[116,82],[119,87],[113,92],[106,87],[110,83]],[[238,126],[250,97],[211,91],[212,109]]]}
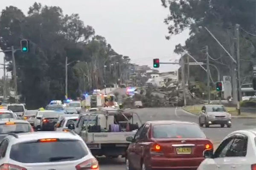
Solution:
{"label": "rear side window of the white car at bottom right", "polygon": [[227,157],[246,156],[247,138],[235,138],[230,149],[227,151]]}

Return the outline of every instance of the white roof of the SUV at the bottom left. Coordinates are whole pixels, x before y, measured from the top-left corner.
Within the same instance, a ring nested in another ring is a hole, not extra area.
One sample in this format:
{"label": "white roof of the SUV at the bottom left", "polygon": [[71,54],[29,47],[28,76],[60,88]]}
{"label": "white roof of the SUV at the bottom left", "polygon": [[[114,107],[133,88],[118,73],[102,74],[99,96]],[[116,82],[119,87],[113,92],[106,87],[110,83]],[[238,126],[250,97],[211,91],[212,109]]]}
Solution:
{"label": "white roof of the SUV at the bottom left", "polygon": [[29,133],[18,133],[16,134],[17,138],[14,135],[9,135],[7,138],[10,139],[12,144],[21,143],[21,142],[30,142],[36,141],[38,139],[75,139],[82,140],[79,135],[74,132],[29,132]]}

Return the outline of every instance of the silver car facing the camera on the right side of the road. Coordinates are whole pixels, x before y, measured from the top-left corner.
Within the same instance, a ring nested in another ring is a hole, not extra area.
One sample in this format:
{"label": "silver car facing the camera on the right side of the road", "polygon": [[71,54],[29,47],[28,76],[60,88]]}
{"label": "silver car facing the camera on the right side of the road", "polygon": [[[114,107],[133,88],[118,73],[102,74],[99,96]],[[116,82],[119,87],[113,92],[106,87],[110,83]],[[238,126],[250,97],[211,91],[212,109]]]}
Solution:
{"label": "silver car facing the camera on the right side of the road", "polygon": [[231,114],[227,113],[223,105],[204,105],[199,116],[199,125],[221,125],[231,127]]}

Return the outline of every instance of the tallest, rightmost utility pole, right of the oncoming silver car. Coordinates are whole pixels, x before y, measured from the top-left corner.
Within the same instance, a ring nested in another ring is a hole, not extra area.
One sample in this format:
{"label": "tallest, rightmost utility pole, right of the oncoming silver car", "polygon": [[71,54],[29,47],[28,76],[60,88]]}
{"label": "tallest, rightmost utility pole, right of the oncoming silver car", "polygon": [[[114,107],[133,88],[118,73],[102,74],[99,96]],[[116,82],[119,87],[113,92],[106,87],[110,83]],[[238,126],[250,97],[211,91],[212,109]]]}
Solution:
{"label": "tallest, rightmost utility pole, right of the oncoming silver car", "polygon": [[239,24],[236,24],[236,71],[237,71],[237,88],[238,88],[238,114],[241,114],[240,99],[241,99],[241,79],[240,79],[240,45],[239,45]]}

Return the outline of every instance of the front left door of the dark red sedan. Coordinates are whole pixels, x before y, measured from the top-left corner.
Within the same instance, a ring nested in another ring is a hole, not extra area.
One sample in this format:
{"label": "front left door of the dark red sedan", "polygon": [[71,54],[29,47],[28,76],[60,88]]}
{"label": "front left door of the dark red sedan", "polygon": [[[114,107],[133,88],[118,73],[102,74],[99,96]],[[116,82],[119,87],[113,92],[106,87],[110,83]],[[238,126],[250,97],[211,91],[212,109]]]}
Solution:
{"label": "front left door of the dark red sedan", "polygon": [[134,135],[134,140],[133,142],[130,143],[129,147],[128,147],[128,156],[127,159],[129,160],[131,167],[136,168],[136,150],[135,150],[135,146],[136,146],[136,142],[138,142],[139,137],[140,137],[140,133],[142,133],[142,130],[144,129],[144,125],[142,125],[137,133],[135,133]]}

